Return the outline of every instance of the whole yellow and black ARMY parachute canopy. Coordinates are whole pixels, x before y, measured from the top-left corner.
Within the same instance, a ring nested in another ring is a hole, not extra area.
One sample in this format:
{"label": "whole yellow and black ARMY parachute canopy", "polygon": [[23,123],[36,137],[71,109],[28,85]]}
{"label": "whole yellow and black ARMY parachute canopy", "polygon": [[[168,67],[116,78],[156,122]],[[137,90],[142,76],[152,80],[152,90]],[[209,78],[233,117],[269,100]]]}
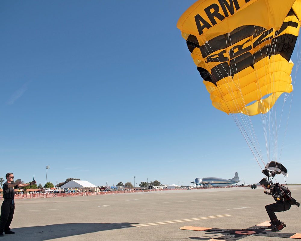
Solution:
{"label": "whole yellow and black ARMY parachute canopy", "polygon": [[215,108],[256,115],[293,90],[301,0],[199,0],[177,27]]}

